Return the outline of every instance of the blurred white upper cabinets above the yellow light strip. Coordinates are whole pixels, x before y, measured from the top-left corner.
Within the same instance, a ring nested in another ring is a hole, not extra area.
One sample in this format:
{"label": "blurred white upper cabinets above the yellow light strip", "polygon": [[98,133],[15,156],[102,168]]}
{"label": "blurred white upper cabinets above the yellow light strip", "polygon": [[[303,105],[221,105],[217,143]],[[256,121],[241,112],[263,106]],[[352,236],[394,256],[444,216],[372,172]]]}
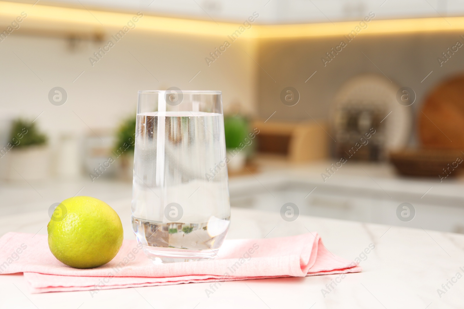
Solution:
{"label": "blurred white upper cabinets above the yellow light strip", "polygon": [[375,13],[375,19],[464,14],[464,3],[460,0],[52,0],[47,3],[239,23],[258,12],[259,24],[355,21],[369,12]]}

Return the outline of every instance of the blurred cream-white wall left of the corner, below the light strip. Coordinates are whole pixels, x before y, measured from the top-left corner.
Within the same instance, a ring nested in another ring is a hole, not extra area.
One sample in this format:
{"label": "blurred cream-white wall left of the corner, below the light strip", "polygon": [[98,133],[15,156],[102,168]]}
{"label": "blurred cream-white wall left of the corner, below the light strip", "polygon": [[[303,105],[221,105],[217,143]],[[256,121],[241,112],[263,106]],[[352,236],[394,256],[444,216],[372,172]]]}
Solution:
{"label": "blurred cream-white wall left of the corner, below the light strip", "polygon": [[[224,40],[135,29],[92,67],[89,57],[106,42],[77,42],[71,49],[64,38],[12,33],[0,42],[1,123],[4,127],[7,119],[18,116],[32,120],[43,112],[36,122],[54,144],[59,135],[83,135],[90,132],[89,127],[112,130],[120,120],[135,113],[137,90],[172,86],[222,90],[225,108],[239,102],[247,112],[254,113],[258,66],[251,57],[255,57],[255,45],[245,39],[233,42],[208,67],[205,57]],[[48,100],[50,89],[56,86],[68,94],[62,106]]]}

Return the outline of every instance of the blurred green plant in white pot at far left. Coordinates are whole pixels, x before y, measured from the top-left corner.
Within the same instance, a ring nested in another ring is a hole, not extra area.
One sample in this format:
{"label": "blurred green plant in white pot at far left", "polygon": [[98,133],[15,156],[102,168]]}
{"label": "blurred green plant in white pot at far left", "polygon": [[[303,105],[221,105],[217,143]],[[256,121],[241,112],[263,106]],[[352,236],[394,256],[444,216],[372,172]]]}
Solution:
{"label": "blurred green plant in white pot at far left", "polygon": [[7,164],[9,180],[39,180],[50,176],[50,151],[47,137],[32,121],[14,120],[9,142],[3,147],[0,160]]}

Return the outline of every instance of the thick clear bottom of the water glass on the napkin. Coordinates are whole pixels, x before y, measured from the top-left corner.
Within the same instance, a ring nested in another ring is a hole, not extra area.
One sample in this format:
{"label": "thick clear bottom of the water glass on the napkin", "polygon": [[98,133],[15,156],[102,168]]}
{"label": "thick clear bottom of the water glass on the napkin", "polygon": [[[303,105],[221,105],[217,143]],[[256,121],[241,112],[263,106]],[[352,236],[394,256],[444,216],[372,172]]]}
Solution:
{"label": "thick clear bottom of the water glass on the napkin", "polygon": [[143,246],[143,251],[149,259],[155,264],[175,263],[175,262],[191,262],[191,261],[207,261],[216,258],[219,249],[212,250],[189,250],[179,248],[165,248]]}

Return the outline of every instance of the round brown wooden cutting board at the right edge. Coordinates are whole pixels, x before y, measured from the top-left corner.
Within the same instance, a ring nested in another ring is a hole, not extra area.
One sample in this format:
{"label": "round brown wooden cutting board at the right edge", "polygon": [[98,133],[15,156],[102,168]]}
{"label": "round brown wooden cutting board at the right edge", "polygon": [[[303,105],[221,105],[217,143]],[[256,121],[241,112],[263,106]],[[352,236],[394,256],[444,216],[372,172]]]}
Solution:
{"label": "round brown wooden cutting board at the right edge", "polygon": [[432,91],[419,112],[418,125],[423,148],[464,150],[464,75]]}

